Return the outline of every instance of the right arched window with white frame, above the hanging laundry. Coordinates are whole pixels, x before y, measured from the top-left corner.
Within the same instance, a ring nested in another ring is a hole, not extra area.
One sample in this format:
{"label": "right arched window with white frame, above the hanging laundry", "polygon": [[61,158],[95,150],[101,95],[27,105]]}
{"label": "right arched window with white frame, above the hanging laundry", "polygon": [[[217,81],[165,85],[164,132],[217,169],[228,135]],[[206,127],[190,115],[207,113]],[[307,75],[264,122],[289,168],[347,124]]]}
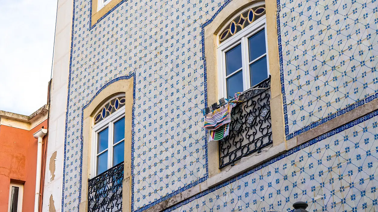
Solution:
{"label": "right arched window with white frame, above the hanging laundry", "polygon": [[268,78],[265,5],[236,15],[218,36],[220,97],[230,98]]}

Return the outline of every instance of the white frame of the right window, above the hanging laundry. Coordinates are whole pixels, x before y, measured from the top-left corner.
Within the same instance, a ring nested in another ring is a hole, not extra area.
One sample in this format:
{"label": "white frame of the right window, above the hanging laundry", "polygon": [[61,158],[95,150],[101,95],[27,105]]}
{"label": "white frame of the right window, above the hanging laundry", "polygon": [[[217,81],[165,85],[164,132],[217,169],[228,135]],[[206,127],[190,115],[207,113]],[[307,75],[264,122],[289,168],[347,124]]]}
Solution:
{"label": "white frame of the right window, above the hanging laundry", "polygon": [[[265,2],[259,2],[256,4],[253,4],[249,6],[248,8],[244,9],[245,11],[249,8],[254,8],[257,6],[264,5]],[[239,15],[238,13],[237,15]],[[234,20],[236,18],[231,18],[231,20]],[[230,21],[231,21],[230,20]],[[228,22],[229,23],[229,22]],[[226,25],[228,27],[228,25]],[[251,37],[253,34],[256,34],[260,30],[265,29],[265,47],[266,47],[266,53],[259,56],[258,58],[254,59],[253,61],[249,62],[249,52],[248,52],[248,38]],[[223,29],[220,31],[223,32]],[[217,35],[218,43],[219,43],[219,35]],[[221,44],[218,45],[217,53],[218,53],[218,88],[219,88],[219,94],[218,98],[226,98],[227,96],[227,84],[226,84],[226,52],[229,49],[232,49],[233,47],[241,44],[242,49],[242,72],[243,72],[243,91],[247,90],[251,87],[251,77],[249,72],[249,64],[254,63],[255,61],[261,59],[263,56],[266,56],[266,66],[268,70],[268,76],[270,75],[269,72],[269,56],[268,56],[268,37],[266,34],[266,15],[263,15],[258,20],[252,22],[248,26],[246,26],[241,31],[237,32],[232,37],[228,38],[227,40],[223,41]],[[229,74],[228,77],[232,76],[233,74],[240,71],[240,69],[234,71],[233,73]],[[241,91],[242,92],[242,91]]]}

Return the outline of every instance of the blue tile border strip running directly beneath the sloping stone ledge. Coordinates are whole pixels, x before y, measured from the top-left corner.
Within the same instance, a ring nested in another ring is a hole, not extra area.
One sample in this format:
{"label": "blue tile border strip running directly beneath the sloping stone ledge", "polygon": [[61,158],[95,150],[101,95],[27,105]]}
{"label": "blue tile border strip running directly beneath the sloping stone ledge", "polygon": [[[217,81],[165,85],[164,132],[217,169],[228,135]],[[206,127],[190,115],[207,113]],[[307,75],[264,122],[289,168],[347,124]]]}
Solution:
{"label": "blue tile border strip running directly beneath the sloping stone ledge", "polygon": [[207,194],[209,194],[211,192],[214,192],[214,191],[216,191],[218,189],[221,189],[221,188],[223,188],[223,187],[225,187],[225,186],[227,186],[227,185],[229,185],[229,184],[231,184],[231,183],[233,183],[233,182],[235,182],[237,180],[240,180],[243,177],[246,177],[246,176],[248,176],[250,174],[253,174],[254,172],[259,171],[260,169],[265,168],[266,166],[269,166],[269,165],[271,165],[273,163],[276,163],[277,161],[282,160],[285,157],[288,157],[288,156],[292,155],[293,153],[296,153],[296,152],[298,152],[298,151],[300,151],[300,150],[302,150],[304,148],[307,148],[308,146],[311,146],[311,145],[313,145],[315,143],[318,143],[318,142],[320,142],[320,141],[322,141],[324,139],[327,139],[328,137],[332,137],[333,135],[335,135],[337,133],[341,133],[342,131],[347,130],[347,129],[349,129],[349,128],[355,126],[355,125],[358,125],[361,122],[369,120],[369,119],[371,119],[371,118],[373,118],[375,116],[378,116],[378,110],[375,110],[372,113],[369,113],[369,114],[367,114],[367,115],[365,115],[363,117],[360,117],[360,118],[358,118],[358,119],[356,119],[356,120],[354,120],[352,122],[349,122],[349,123],[347,123],[345,125],[342,125],[341,127],[338,127],[336,129],[328,132],[328,133],[324,133],[321,136],[318,136],[318,137],[316,137],[316,138],[314,138],[314,139],[312,139],[310,141],[307,141],[307,142],[305,142],[305,143],[303,143],[303,144],[301,144],[299,146],[296,146],[296,147],[288,150],[286,153],[283,153],[280,156],[274,157],[273,159],[269,160],[268,162],[261,163],[256,168],[253,168],[253,169],[251,169],[251,170],[249,170],[249,171],[247,171],[247,172],[245,172],[243,174],[240,174],[240,175],[238,175],[238,176],[236,176],[234,178],[231,178],[230,180],[228,180],[228,181],[226,181],[226,182],[224,182],[224,183],[222,183],[220,185],[217,185],[217,186],[215,186],[213,188],[209,188],[209,189],[207,189],[207,190],[205,190],[203,192],[200,192],[199,194],[197,194],[197,195],[195,195],[195,196],[193,196],[191,198],[188,198],[187,200],[184,200],[184,201],[182,201],[182,202],[180,202],[178,204],[175,204],[174,206],[172,206],[172,207],[164,210],[164,212],[171,212],[173,210],[176,210],[179,207],[184,206],[184,205],[186,205],[186,204],[188,204],[188,203],[190,203],[190,202],[192,202],[194,200],[197,200],[200,197],[203,197],[203,196],[205,196],[205,195],[207,195]]}

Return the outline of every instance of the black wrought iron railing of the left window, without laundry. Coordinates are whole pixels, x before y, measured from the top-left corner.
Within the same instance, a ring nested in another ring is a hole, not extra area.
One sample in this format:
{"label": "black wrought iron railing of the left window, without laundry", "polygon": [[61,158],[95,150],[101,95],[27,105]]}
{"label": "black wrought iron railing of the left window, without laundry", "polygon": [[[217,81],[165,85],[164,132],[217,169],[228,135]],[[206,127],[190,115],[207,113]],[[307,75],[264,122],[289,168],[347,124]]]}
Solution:
{"label": "black wrought iron railing of the left window, without laundry", "polygon": [[122,211],[124,162],[88,180],[88,212]]}

